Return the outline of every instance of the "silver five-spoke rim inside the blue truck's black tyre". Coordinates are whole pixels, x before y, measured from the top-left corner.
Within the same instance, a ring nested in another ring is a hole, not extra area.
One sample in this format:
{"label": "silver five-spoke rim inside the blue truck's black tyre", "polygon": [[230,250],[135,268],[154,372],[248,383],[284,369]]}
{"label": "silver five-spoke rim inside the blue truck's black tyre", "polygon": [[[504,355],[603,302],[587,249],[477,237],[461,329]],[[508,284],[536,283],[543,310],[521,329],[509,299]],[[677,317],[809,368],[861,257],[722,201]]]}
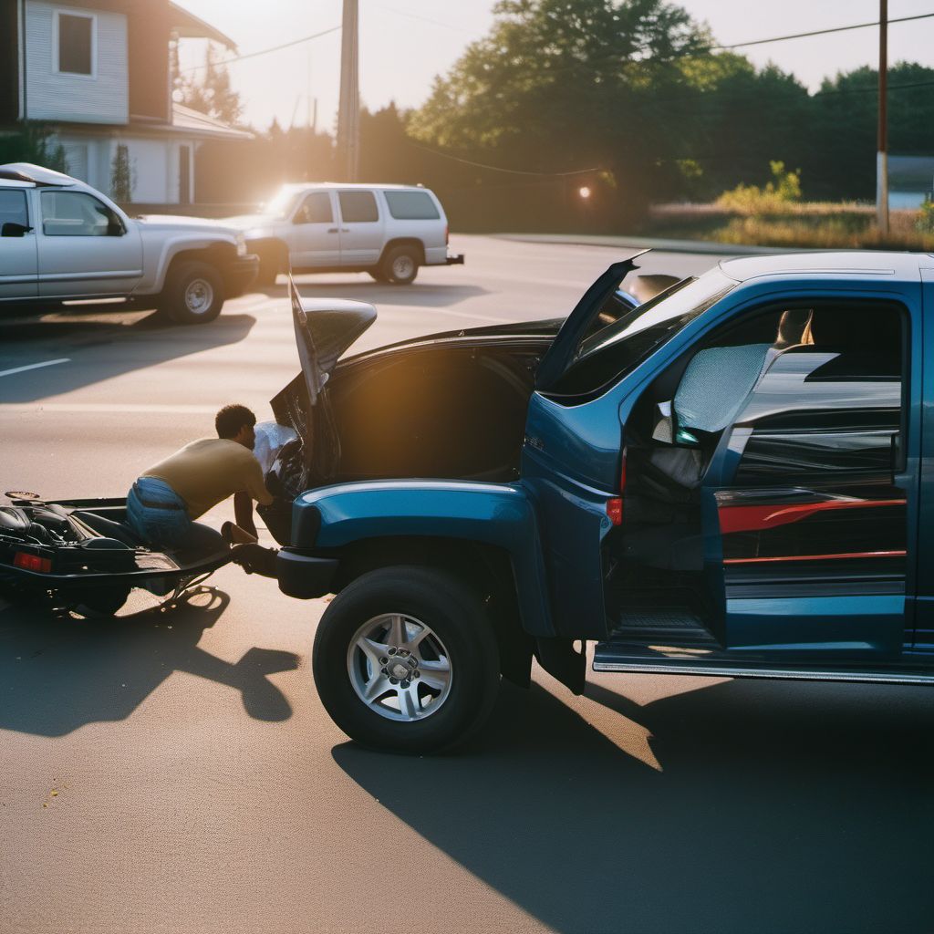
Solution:
{"label": "silver five-spoke rim inside the blue truck's black tyre", "polygon": [[430,627],[405,614],[368,619],[347,647],[347,672],[367,707],[405,723],[435,714],[451,690],[445,644]]}

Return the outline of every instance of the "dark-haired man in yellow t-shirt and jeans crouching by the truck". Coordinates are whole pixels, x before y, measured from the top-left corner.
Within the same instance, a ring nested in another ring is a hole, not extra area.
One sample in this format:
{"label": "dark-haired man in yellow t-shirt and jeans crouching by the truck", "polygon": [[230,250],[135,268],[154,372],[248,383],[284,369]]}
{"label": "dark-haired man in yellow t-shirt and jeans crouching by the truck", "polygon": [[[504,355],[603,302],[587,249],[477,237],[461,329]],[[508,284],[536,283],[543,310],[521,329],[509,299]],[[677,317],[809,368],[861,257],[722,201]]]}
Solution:
{"label": "dark-haired man in yellow t-shirt and jeans crouching by the truck", "polygon": [[273,502],[252,453],[256,416],[245,405],[225,405],[214,424],[218,437],[199,438],[160,460],[127,494],[127,522],[149,545],[205,554],[226,550],[218,531],[194,520],[233,496],[237,518],[250,517],[252,525],[252,501]]}

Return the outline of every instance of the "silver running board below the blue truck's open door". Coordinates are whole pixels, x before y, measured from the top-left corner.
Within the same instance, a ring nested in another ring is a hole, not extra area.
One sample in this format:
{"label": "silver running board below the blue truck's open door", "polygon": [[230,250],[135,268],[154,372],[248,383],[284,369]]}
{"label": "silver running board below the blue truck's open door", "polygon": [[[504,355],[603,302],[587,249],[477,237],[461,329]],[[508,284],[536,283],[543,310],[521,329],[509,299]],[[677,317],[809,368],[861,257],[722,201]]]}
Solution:
{"label": "silver running board below the blue truck's open door", "polygon": [[[622,646],[597,644],[593,657],[595,672],[644,672],[649,674],[701,674],[715,678],[773,678],[780,681],[850,681],[883,685],[934,685],[934,672],[891,669],[887,672],[850,668],[787,668],[781,665],[743,664],[740,659],[724,662],[722,658],[703,662],[696,658],[632,658]],[[635,648],[635,646],[626,646]]]}

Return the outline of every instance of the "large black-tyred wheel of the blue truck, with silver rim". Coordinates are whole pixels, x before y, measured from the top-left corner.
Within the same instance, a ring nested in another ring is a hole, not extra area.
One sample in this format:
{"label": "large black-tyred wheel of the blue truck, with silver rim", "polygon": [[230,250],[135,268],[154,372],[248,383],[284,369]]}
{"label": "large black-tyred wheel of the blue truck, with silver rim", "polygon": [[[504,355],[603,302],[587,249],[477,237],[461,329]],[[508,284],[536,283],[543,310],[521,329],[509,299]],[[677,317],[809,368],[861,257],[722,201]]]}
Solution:
{"label": "large black-tyred wheel of the blue truck, with silver rim", "polygon": [[312,668],[334,723],[362,745],[433,753],[486,722],[500,681],[496,636],[476,594],[417,566],[365,573],[328,606]]}

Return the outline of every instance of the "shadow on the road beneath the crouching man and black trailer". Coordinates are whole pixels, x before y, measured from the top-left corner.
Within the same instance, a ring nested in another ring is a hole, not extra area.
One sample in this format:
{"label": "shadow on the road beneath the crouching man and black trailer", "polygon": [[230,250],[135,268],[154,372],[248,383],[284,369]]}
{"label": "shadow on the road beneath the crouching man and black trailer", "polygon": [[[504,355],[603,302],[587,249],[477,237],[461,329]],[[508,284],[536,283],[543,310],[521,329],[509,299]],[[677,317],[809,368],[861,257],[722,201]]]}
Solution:
{"label": "shadow on the road beneath the crouching man and black trailer", "polygon": [[232,664],[198,646],[229,602],[223,591],[200,587],[164,610],[122,618],[7,608],[0,612],[0,729],[64,736],[125,720],[173,672],[239,691],[254,719],[287,720],[289,701],[266,675],[294,670],[297,656],[254,646]]}

